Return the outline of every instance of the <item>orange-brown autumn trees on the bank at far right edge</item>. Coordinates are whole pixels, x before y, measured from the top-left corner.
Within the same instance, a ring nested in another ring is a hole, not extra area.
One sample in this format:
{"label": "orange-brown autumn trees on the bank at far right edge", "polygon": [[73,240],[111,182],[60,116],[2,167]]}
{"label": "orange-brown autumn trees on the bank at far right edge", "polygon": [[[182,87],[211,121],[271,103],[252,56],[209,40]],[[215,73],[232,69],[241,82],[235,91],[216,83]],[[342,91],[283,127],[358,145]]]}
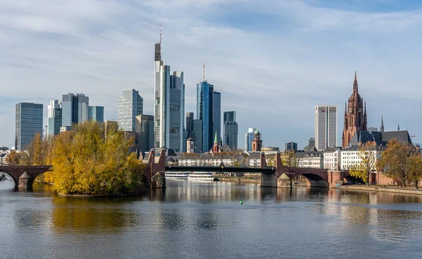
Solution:
{"label": "orange-brown autumn trees on the bank at far right edge", "polygon": [[388,141],[387,149],[382,153],[381,165],[386,175],[397,179],[397,186],[404,187],[422,177],[422,159],[415,147],[397,139]]}

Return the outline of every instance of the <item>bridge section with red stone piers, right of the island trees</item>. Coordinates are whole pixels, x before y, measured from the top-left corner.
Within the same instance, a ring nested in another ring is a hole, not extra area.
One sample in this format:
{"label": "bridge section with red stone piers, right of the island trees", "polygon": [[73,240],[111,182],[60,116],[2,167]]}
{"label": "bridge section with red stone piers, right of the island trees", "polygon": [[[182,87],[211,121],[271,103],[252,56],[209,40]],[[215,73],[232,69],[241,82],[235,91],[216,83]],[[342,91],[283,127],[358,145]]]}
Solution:
{"label": "bridge section with red stone piers, right of the island trees", "polygon": [[330,187],[350,181],[349,172],[332,171],[313,168],[291,168],[281,163],[280,153],[276,153],[276,165],[267,166],[265,155],[261,153],[261,168],[245,167],[212,167],[212,166],[166,166],[165,152],[161,152],[158,163],[155,163],[155,151],[151,151],[146,164],[144,175],[151,186],[154,186],[153,177],[160,173],[165,177],[165,171],[191,172],[255,172],[261,173],[260,186],[262,187],[291,187],[292,179],[302,175],[307,180],[307,186]]}

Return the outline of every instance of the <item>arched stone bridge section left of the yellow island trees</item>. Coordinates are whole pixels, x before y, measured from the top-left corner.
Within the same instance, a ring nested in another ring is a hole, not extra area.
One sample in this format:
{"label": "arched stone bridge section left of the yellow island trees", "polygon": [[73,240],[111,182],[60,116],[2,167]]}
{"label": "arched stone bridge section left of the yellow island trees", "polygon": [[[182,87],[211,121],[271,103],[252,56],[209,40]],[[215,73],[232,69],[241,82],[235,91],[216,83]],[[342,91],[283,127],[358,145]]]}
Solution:
{"label": "arched stone bridge section left of the yellow island trees", "polygon": [[51,165],[18,166],[6,165],[0,166],[0,172],[10,175],[15,182],[15,187],[32,189],[32,182],[44,172],[48,172]]}

